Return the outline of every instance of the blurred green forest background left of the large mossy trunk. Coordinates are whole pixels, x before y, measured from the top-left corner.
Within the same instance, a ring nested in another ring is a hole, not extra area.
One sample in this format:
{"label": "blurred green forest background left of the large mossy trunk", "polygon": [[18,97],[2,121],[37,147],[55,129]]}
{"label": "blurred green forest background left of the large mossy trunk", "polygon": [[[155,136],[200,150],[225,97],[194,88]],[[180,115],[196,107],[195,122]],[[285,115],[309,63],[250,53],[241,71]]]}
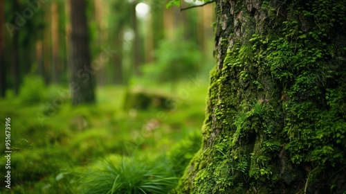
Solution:
{"label": "blurred green forest background left of the large mossy trunk", "polygon": [[[12,150],[11,189],[0,159],[1,193],[176,186],[201,144],[214,19],[212,4],[181,12],[166,3],[0,0],[0,123],[10,118]],[[84,50],[75,46],[80,13]],[[76,69],[82,50],[91,66]],[[73,100],[75,75],[94,78],[94,100]]]}

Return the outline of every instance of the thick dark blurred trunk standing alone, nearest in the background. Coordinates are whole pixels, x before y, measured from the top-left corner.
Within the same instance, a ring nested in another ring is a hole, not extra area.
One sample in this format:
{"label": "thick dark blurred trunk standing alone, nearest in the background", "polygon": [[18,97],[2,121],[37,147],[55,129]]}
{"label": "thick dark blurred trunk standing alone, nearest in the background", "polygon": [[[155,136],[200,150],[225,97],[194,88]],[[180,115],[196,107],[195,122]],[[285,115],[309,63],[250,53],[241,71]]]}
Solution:
{"label": "thick dark blurred trunk standing alone, nearest in the background", "polygon": [[[95,71],[91,67],[89,51],[89,29],[86,26],[86,3],[70,0],[71,7],[71,64],[70,80],[72,104],[95,102]],[[100,64],[95,64],[99,67]]]}

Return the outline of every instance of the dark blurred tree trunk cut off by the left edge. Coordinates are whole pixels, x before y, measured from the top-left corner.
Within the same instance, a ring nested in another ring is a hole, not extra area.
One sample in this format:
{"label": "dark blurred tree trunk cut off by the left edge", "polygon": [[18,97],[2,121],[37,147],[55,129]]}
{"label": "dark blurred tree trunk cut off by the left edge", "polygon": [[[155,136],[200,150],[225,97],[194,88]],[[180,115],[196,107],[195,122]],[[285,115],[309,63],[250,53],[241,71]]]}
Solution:
{"label": "dark blurred tree trunk cut off by the left edge", "polygon": [[0,0],[0,98],[6,95],[5,4]]}

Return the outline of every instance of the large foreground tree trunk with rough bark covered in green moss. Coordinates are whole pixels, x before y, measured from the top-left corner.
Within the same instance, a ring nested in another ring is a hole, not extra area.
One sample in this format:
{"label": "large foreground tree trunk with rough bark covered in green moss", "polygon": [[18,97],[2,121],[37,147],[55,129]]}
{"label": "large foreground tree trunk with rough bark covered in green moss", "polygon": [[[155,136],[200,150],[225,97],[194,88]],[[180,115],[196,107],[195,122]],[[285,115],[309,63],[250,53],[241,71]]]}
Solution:
{"label": "large foreground tree trunk with rough bark covered in green moss", "polygon": [[346,190],[345,11],[216,1],[203,145],[172,193]]}

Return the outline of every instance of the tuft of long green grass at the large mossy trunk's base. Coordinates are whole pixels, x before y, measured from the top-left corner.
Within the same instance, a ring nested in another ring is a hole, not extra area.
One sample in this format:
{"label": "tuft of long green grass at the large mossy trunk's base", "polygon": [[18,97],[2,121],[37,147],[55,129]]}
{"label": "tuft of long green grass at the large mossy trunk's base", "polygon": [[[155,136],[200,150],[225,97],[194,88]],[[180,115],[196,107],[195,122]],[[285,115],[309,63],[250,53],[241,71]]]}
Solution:
{"label": "tuft of long green grass at the large mossy trunk's base", "polygon": [[110,157],[80,180],[81,193],[167,193],[176,186],[163,158]]}

